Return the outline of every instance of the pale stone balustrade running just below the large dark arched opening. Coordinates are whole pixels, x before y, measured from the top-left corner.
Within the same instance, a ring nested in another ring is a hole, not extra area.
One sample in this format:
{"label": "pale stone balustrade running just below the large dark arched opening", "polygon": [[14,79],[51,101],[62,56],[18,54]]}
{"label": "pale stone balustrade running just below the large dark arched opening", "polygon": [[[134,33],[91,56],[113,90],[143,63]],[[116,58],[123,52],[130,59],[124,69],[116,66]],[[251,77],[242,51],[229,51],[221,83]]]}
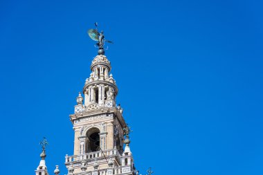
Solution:
{"label": "pale stone balustrade running just below the large dark arched opening", "polygon": [[86,154],[74,155],[74,156],[66,155],[65,163],[71,163],[74,161],[80,161],[80,160],[86,160],[86,159],[104,158],[104,156],[106,157],[117,156],[118,158],[120,158],[120,153],[118,152],[117,149],[109,149],[105,151],[95,151],[95,152],[90,152]]}

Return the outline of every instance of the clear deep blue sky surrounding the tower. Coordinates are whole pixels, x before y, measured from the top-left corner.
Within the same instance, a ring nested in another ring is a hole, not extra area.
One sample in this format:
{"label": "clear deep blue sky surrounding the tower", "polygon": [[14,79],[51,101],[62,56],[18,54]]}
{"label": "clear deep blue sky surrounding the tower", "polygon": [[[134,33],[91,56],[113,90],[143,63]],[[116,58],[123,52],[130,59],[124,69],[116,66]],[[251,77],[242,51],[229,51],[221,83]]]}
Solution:
{"label": "clear deep blue sky surrounding the tower", "polygon": [[0,174],[73,154],[98,21],[146,174],[263,174],[262,1],[0,1]]}

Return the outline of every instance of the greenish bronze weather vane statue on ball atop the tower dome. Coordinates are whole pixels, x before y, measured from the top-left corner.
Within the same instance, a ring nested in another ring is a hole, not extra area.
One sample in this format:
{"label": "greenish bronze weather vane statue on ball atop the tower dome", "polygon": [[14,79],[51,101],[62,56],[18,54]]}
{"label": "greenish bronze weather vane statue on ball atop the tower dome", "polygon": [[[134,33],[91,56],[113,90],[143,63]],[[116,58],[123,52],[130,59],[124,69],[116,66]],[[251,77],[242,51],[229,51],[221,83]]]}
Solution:
{"label": "greenish bronze weather vane statue on ball atop the tower dome", "polygon": [[104,55],[105,54],[105,50],[104,50],[104,45],[105,42],[111,43],[113,44],[113,42],[105,39],[105,36],[103,34],[103,30],[101,30],[101,32],[98,32],[98,23],[95,23],[96,29],[89,29],[88,30],[88,35],[89,37],[93,40],[96,41],[96,46],[98,46],[98,54],[99,55]]}

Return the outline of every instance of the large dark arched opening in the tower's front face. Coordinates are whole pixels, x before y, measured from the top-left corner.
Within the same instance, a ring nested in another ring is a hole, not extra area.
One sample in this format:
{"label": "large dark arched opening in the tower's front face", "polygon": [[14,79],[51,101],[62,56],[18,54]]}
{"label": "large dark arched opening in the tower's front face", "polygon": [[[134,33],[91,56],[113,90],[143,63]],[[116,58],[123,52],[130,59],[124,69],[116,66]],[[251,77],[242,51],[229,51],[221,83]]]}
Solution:
{"label": "large dark arched opening in the tower's front face", "polygon": [[94,151],[100,151],[100,129],[98,128],[91,128],[89,131],[87,131],[87,147],[86,152],[94,152]]}

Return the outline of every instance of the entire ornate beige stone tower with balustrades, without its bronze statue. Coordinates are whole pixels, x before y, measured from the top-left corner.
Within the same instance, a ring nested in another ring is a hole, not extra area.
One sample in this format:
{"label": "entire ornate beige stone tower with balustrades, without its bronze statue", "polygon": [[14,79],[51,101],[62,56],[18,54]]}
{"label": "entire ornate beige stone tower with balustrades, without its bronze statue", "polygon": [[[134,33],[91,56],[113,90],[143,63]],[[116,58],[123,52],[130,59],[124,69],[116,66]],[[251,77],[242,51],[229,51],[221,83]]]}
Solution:
{"label": "entire ornate beige stone tower with balustrades, without its bronze statue", "polygon": [[70,115],[75,138],[74,155],[65,157],[69,175],[138,174],[129,148],[129,127],[123,109],[116,106],[118,87],[103,54],[93,59],[82,89],[84,98],[79,93]]}

